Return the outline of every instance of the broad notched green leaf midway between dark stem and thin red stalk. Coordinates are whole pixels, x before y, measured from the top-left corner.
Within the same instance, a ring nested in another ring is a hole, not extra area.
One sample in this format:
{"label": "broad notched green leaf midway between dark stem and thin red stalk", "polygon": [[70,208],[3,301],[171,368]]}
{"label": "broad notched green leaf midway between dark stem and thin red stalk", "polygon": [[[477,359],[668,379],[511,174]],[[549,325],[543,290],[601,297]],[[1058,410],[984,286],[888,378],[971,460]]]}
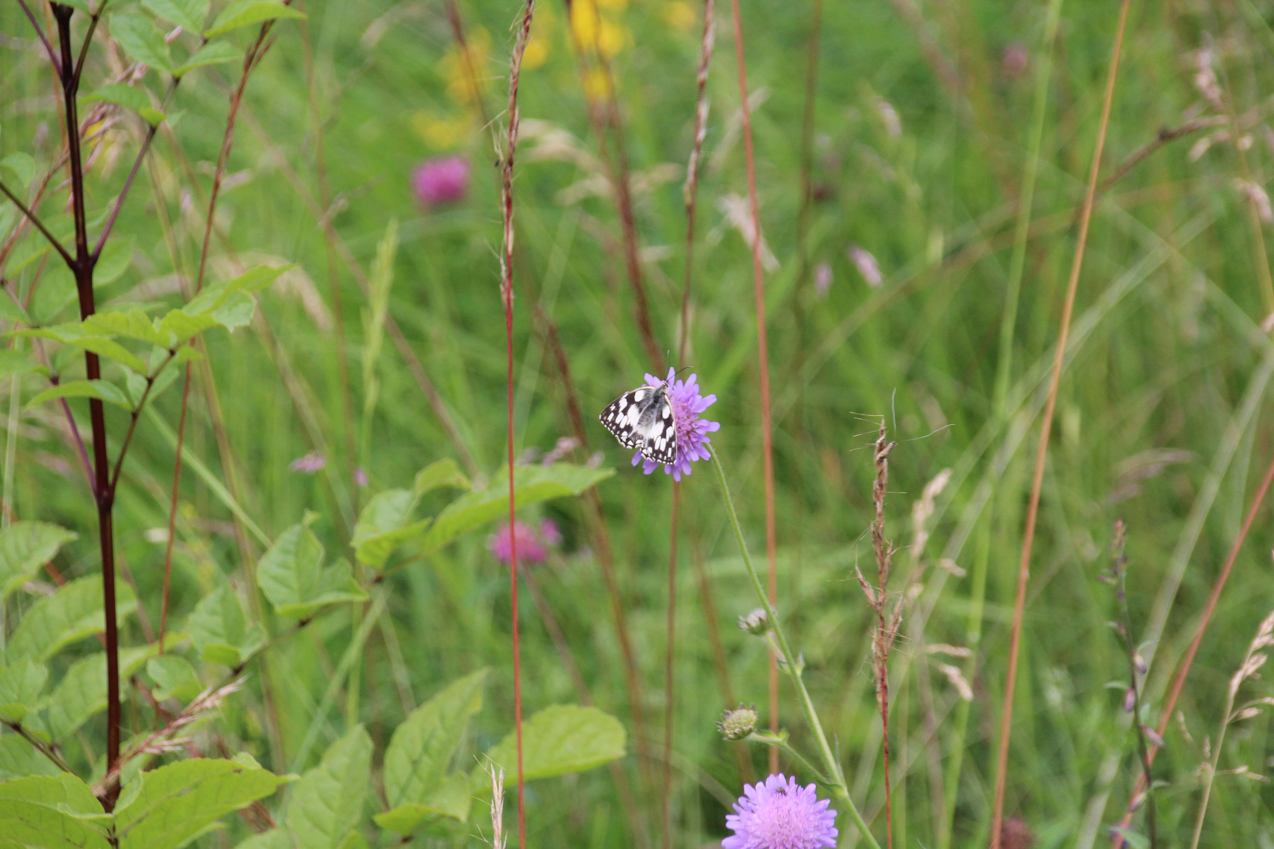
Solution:
{"label": "broad notched green leaf midway between dark stem and thin red stalk", "polygon": [[256,583],[280,616],[306,620],[327,605],[366,601],[367,593],[354,580],[345,561],[326,569],[324,550],[308,522],[293,524],[279,535],[256,564]]}

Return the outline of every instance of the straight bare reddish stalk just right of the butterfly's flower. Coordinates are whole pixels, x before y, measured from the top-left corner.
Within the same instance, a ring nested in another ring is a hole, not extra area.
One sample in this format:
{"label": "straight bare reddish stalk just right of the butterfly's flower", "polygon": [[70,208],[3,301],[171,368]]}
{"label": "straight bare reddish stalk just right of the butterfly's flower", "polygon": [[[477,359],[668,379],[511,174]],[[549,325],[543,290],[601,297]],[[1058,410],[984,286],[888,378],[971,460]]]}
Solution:
{"label": "straight bare reddish stalk just right of the butterfly's flower", "polygon": [[[743,150],[748,165],[748,202],[752,207],[752,279],[757,302],[757,356],[761,365],[761,447],[766,475],[766,578],[769,605],[778,603],[775,549],[775,451],[769,429],[769,345],[766,336],[766,279],[761,267],[761,209],[757,202],[757,165],[752,151],[752,116],[748,108],[748,62],[743,48],[739,0],[730,0],[734,17],[734,52],[739,65],[739,103],[743,113]],[[778,732],[778,658],[769,654],[769,729]],[[778,771],[778,748],[769,748],[769,771]]]}

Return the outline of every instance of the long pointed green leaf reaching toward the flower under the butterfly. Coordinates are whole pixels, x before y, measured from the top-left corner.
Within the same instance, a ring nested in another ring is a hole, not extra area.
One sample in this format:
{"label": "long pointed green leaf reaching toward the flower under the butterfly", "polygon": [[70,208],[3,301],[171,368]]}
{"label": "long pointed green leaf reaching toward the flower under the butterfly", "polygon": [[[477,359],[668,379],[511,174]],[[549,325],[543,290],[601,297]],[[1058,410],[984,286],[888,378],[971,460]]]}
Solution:
{"label": "long pointed green leaf reaching toward the flower under the butterfly", "polygon": [[[571,463],[515,466],[513,491],[517,507],[563,495],[578,495],[614,475],[613,468],[589,468]],[[422,554],[437,551],[461,533],[508,513],[508,468],[497,472],[484,490],[461,495],[438,514],[420,541]]]}

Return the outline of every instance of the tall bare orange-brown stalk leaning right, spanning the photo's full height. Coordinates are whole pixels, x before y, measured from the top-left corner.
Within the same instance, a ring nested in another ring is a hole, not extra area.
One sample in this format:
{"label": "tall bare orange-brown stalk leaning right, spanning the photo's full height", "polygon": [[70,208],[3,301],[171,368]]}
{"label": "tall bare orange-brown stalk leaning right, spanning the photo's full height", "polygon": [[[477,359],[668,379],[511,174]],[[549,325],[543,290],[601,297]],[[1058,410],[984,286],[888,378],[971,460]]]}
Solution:
{"label": "tall bare orange-brown stalk leaning right, spanning the photo's full height", "polygon": [[1049,457],[1049,435],[1052,433],[1052,412],[1057,405],[1057,387],[1061,383],[1061,367],[1066,356],[1066,337],[1070,335],[1070,316],[1075,307],[1075,290],[1079,288],[1079,270],[1084,262],[1084,247],[1088,243],[1088,225],[1093,218],[1093,199],[1097,195],[1097,174],[1102,167],[1102,149],[1106,146],[1106,129],[1110,126],[1111,102],[1115,99],[1115,80],[1119,78],[1119,59],[1124,47],[1124,27],[1127,23],[1130,0],[1122,0],[1119,11],[1119,24],[1115,31],[1115,48],[1111,52],[1110,69],[1106,74],[1106,95],[1102,99],[1102,118],[1097,127],[1097,144],[1093,149],[1093,163],[1088,171],[1088,190],[1084,193],[1084,206],[1079,216],[1079,239],[1075,242],[1075,255],[1070,262],[1070,279],[1066,283],[1066,300],[1061,308],[1061,330],[1057,333],[1057,347],[1052,361],[1052,377],[1049,383],[1049,400],[1045,402],[1043,421],[1040,428],[1040,444],[1036,448],[1034,476],[1031,480],[1031,500],[1027,505],[1026,530],[1022,536],[1022,560],[1018,564],[1018,588],[1013,602],[1013,630],[1009,638],[1009,667],[1004,681],[1004,706],[1000,712],[1000,732],[995,760],[995,806],[991,815],[991,849],[1000,849],[1000,829],[1004,824],[1004,784],[1008,779],[1009,737],[1013,728],[1013,691],[1018,677],[1018,650],[1022,644],[1022,617],[1027,601],[1027,580],[1031,575],[1031,547],[1034,542],[1036,517],[1040,512],[1040,490],[1043,488],[1043,467]]}

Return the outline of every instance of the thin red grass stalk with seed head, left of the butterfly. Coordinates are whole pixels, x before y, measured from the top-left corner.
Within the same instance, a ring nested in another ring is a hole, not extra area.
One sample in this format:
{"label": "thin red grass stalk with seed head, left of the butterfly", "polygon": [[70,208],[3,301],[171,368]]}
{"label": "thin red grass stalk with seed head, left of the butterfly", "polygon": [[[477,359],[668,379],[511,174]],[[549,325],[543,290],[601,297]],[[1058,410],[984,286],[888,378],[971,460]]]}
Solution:
{"label": "thin red grass stalk with seed head, left of the butterfly", "polygon": [[[517,504],[513,498],[513,157],[517,153],[517,81],[522,71],[522,53],[531,36],[531,15],[535,0],[526,0],[522,23],[513,42],[513,56],[508,69],[508,139],[501,162],[501,207],[505,216],[505,244],[499,257],[499,293],[505,302],[505,340],[508,359],[508,527],[516,522]],[[522,776],[522,661],[517,642],[517,541],[508,537],[508,586],[512,596],[513,630],[513,732],[517,738],[517,845],[526,849],[526,787]]]}

